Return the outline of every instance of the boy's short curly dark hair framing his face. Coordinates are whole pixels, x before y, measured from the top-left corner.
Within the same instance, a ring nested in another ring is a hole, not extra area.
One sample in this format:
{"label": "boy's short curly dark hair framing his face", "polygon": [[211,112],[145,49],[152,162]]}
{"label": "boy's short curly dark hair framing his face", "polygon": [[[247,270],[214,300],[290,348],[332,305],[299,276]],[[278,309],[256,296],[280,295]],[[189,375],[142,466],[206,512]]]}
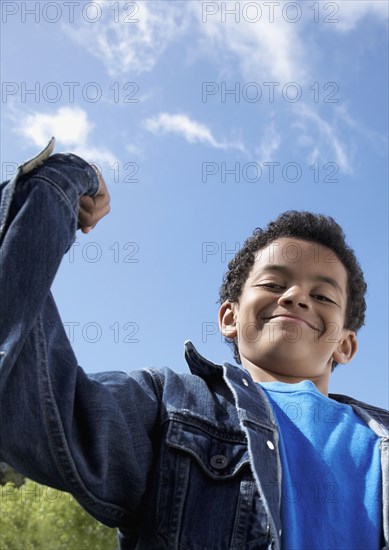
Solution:
{"label": "boy's short curly dark hair framing his face", "polygon": [[[219,301],[238,302],[244,284],[254,265],[256,253],[272,241],[282,237],[295,237],[321,244],[332,250],[343,263],[348,274],[348,296],[345,328],[357,332],[365,322],[367,285],[354,251],[347,245],[340,225],[330,216],[312,212],[288,210],[265,229],[254,230],[243,247],[228,264],[219,290]],[[232,347],[234,359],[241,364],[236,339],[225,338]],[[332,370],[337,363],[334,361]]]}

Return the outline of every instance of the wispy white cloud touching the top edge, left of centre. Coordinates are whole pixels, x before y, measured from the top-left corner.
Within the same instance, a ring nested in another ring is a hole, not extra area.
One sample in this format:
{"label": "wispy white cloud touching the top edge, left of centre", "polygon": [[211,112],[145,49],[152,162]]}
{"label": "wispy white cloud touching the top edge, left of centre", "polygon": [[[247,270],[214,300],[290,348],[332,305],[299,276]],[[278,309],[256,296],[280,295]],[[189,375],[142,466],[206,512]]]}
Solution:
{"label": "wispy white cloud touching the top edge, left of centre", "polygon": [[64,25],[64,30],[97,57],[110,76],[150,71],[187,26],[187,10],[180,2],[177,6],[171,2],[118,2],[117,11],[104,0],[95,3],[101,6],[101,21],[91,24],[81,20],[78,25]]}

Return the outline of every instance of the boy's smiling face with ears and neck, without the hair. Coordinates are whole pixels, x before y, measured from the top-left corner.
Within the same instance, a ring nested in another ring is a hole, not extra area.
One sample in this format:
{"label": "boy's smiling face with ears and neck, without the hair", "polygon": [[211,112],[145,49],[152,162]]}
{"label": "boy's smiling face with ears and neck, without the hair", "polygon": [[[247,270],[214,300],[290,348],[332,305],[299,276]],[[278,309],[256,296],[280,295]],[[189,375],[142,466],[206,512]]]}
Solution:
{"label": "boy's smiling face with ears and neck, without the hair", "polygon": [[311,379],[326,393],[333,360],[356,352],[344,328],[348,275],[328,248],[280,238],[258,251],[238,302],[219,313],[222,332],[238,338],[254,380]]}

